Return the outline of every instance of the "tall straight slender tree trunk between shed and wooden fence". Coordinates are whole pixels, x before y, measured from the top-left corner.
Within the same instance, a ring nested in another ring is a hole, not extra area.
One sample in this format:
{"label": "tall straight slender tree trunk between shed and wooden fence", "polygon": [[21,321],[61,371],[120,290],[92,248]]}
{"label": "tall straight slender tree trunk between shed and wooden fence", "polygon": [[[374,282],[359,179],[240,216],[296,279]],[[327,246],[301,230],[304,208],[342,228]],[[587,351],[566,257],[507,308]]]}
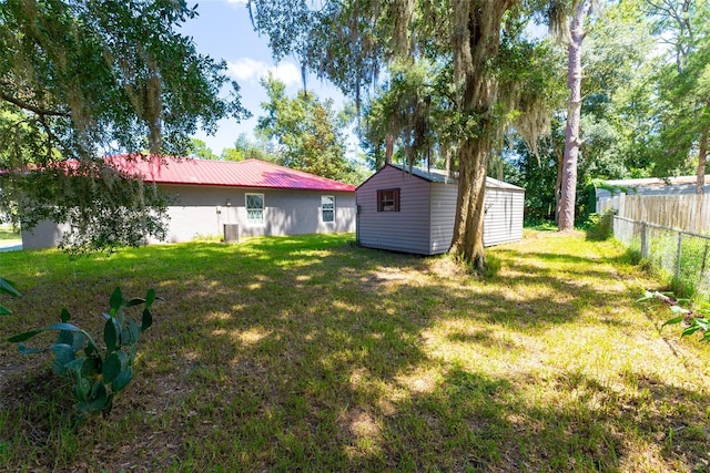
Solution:
{"label": "tall straight slender tree trunk between shed and wooden fence", "polygon": [[579,122],[581,119],[581,43],[585,39],[584,24],[587,2],[577,3],[570,25],[570,41],[567,45],[569,60],[567,85],[567,127],[565,130],[565,156],[562,158],[562,184],[560,187],[559,222],[560,232],[575,227],[575,202],[577,200],[577,161],[579,158]]}

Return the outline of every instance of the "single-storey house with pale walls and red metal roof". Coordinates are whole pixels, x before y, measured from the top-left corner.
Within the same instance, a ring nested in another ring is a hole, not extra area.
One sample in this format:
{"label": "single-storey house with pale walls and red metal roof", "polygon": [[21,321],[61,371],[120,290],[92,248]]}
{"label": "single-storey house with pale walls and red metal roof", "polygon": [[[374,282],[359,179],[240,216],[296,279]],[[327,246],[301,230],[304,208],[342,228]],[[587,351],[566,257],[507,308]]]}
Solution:
{"label": "single-storey house with pale walls and red metal roof", "polygon": [[[199,236],[241,237],[355,232],[355,186],[266,163],[196,158],[108,157],[173,196],[168,241]],[[54,247],[61,228],[42,223],[23,232],[26,249]],[[155,243],[155,241],[151,241]]]}

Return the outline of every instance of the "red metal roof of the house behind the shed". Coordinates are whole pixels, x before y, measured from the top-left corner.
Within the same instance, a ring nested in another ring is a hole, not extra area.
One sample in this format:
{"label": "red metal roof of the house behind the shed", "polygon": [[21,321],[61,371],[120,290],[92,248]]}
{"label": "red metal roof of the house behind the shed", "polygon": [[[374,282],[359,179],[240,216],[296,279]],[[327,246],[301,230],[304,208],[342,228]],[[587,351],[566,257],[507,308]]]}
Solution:
{"label": "red metal roof of the house behind the shed", "polygon": [[155,184],[355,192],[355,186],[260,160],[211,161],[170,156],[111,156],[106,161]]}

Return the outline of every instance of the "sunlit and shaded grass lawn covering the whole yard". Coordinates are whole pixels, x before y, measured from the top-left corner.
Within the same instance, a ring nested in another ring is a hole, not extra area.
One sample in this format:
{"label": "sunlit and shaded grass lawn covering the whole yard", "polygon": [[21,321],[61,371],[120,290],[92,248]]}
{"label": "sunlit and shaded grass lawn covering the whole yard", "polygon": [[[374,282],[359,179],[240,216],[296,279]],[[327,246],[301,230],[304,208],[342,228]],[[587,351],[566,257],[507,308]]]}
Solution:
{"label": "sunlit and shaded grass lawn covering the whole yard", "polygon": [[620,246],[526,233],[476,279],[351,239],[0,254],[24,296],[3,339],[62,307],[99,335],[115,286],[165,298],[113,412],[77,430],[49,356],[0,343],[0,469],[710,470],[710,348],[659,332]]}

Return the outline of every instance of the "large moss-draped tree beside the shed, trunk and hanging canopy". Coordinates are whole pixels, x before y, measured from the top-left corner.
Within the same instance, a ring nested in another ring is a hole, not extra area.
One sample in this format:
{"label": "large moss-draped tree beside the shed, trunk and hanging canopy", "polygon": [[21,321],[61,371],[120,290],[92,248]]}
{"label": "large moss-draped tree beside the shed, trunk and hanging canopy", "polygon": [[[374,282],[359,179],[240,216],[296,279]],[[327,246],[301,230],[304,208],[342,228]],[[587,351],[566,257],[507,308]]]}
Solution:
{"label": "large moss-draped tree beside the shed, trunk and hanging canopy", "polygon": [[[327,78],[357,104],[394,59],[432,58],[450,64],[449,94],[456,130],[458,205],[450,253],[476,270],[486,267],[483,246],[484,193],[489,154],[507,126],[539,112],[539,102],[516,88],[525,61],[517,58],[516,31],[524,9],[545,2],[519,0],[322,1],[251,0],[257,30],[274,55],[295,54],[304,69]],[[505,54],[499,54],[504,51]],[[513,65],[518,68],[511,68]],[[515,72],[514,72],[515,69]],[[304,74],[305,75],[305,74]],[[525,107],[519,107],[527,99]],[[544,130],[546,120],[525,126]],[[528,133],[528,136],[530,133]]]}

